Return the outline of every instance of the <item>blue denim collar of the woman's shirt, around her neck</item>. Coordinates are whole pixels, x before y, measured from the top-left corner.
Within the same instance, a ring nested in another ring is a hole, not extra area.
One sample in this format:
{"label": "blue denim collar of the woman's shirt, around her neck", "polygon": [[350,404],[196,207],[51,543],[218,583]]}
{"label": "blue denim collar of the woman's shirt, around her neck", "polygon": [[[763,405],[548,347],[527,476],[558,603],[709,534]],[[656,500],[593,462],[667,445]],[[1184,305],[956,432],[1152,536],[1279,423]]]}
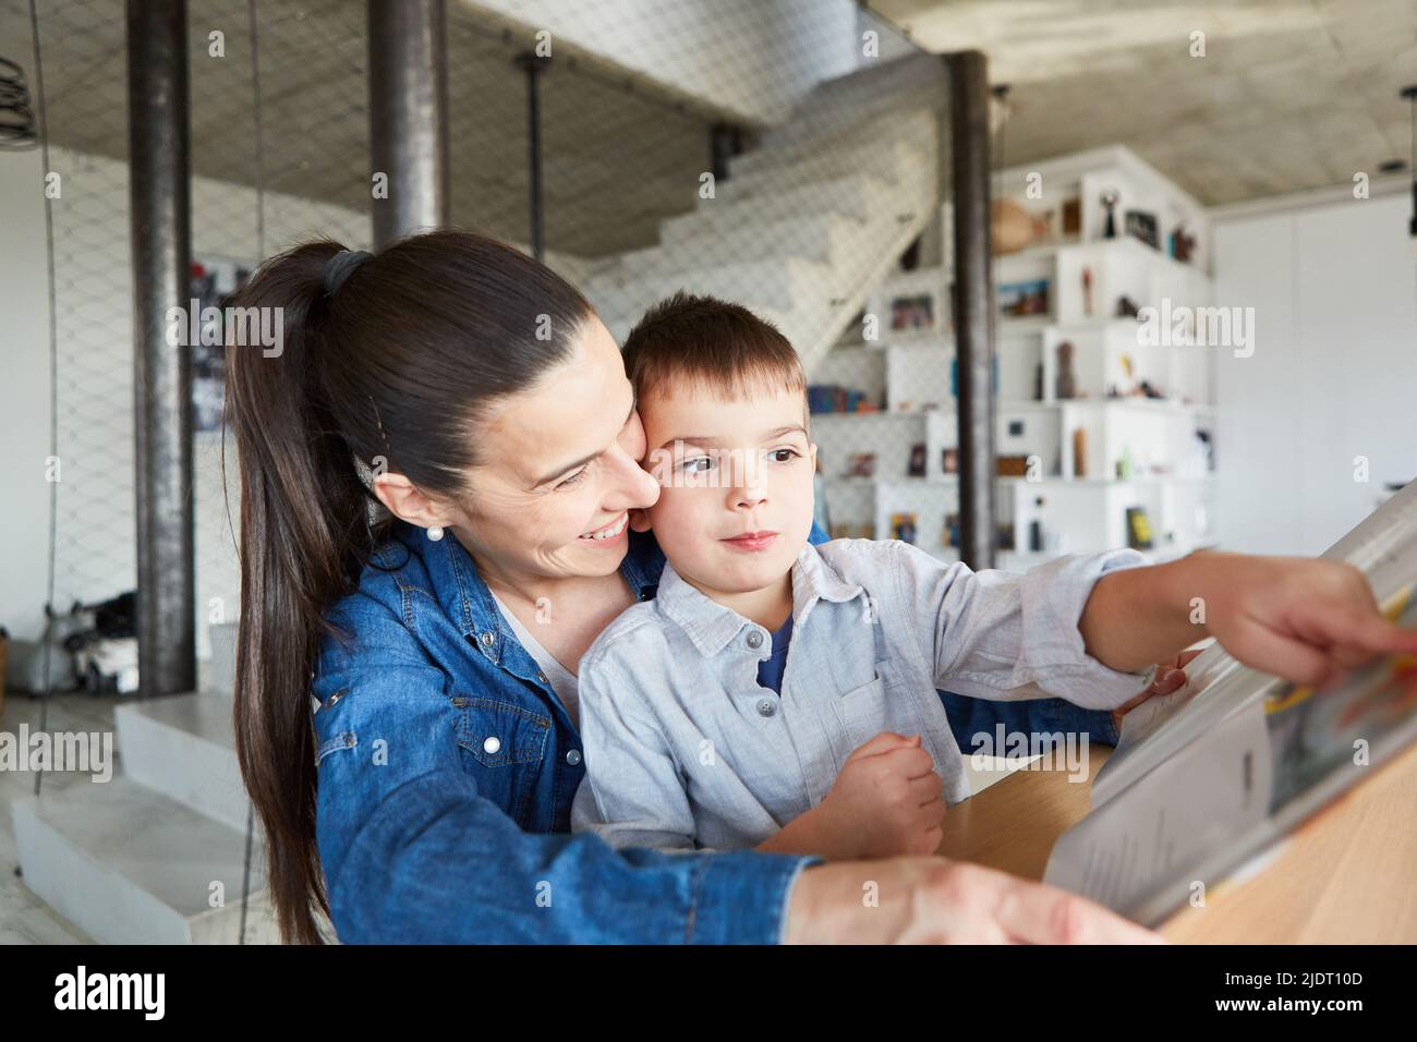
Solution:
{"label": "blue denim collar of the woman's shirt, around her neck", "polygon": [[[434,598],[468,642],[487,661],[500,665],[503,648],[520,646],[520,641],[492,598],[486,580],[478,573],[472,554],[451,532],[434,542],[418,526],[395,519],[391,534],[410,553],[422,559]],[[655,597],[663,567],[665,554],[660,553],[655,534],[631,532],[629,550],[621,561],[619,573],[638,600],[648,601]]]}

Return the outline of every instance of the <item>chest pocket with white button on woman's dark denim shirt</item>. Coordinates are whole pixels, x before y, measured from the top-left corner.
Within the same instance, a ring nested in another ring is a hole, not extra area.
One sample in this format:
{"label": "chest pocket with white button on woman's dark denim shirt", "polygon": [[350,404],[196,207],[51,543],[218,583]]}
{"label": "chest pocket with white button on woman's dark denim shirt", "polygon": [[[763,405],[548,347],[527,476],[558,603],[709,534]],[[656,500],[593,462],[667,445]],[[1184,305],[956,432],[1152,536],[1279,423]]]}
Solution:
{"label": "chest pocket with white button on woman's dark denim shirt", "polygon": [[546,766],[551,717],[496,699],[453,698],[458,744],[478,790],[523,828]]}

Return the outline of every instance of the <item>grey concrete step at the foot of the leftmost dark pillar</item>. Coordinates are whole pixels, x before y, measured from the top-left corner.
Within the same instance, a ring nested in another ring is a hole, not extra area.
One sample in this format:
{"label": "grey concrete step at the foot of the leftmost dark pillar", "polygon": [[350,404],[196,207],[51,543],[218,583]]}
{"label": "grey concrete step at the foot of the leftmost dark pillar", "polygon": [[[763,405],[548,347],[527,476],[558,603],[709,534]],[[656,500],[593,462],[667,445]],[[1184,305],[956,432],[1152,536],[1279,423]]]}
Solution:
{"label": "grey concrete step at the foot of the leftmost dark pillar", "polygon": [[245,832],[249,798],[237,766],[231,699],[213,692],[118,706],[118,749],[129,778]]}

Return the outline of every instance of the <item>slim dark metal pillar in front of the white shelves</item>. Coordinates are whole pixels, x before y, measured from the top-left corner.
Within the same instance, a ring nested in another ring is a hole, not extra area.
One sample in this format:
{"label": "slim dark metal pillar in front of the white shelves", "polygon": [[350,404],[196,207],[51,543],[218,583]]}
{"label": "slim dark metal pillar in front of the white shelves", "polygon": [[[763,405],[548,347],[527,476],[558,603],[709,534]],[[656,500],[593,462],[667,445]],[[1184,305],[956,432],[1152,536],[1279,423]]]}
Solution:
{"label": "slim dark metal pillar in front of the white shelves", "polygon": [[945,55],[955,203],[959,379],[959,556],[993,567],[993,265],[989,245],[989,75],[979,51]]}

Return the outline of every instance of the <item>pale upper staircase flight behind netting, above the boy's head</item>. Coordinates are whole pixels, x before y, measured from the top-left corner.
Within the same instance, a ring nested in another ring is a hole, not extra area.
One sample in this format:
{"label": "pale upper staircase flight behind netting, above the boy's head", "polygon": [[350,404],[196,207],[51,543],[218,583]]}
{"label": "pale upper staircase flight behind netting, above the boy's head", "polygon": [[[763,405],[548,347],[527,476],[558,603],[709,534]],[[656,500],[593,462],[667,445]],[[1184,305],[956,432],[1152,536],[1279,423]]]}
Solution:
{"label": "pale upper staircase flight behind netting, above the boy's head", "polygon": [[938,208],[945,91],[931,55],[820,84],[659,245],[597,267],[587,296],[621,342],[679,289],[747,305],[811,374]]}

